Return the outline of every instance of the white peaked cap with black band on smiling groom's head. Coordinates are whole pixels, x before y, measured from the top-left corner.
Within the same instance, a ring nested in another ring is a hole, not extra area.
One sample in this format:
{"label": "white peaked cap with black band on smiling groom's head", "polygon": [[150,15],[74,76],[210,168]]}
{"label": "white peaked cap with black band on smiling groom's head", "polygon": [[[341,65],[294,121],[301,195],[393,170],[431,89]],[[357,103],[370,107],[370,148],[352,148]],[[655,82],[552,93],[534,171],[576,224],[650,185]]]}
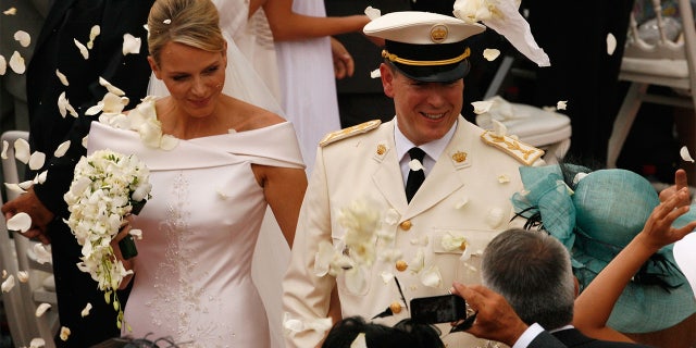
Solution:
{"label": "white peaked cap with black band on smiling groom's head", "polygon": [[437,13],[391,12],[372,20],[363,33],[385,39],[382,57],[421,82],[452,82],[469,72],[464,40],[485,26]]}

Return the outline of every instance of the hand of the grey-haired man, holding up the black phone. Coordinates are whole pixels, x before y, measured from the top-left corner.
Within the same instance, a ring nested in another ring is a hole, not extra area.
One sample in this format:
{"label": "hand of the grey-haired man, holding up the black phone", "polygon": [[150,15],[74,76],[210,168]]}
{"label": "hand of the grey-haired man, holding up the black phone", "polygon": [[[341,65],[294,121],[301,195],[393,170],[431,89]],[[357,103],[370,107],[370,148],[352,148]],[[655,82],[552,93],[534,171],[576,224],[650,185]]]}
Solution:
{"label": "hand of the grey-haired man, holding up the black phone", "polygon": [[483,285],[465,286],[455,282],[451,293],[463,297],[477,313],[474,324],[467,332],[478,338],[501,341],[512,347],[529,327],[500,294]]}

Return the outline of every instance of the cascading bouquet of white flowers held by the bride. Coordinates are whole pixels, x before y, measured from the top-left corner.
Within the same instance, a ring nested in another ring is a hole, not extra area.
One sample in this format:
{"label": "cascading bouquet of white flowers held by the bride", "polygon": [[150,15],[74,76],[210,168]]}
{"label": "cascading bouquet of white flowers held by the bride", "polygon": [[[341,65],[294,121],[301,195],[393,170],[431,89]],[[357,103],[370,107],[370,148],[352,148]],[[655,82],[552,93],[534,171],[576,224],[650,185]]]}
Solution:
{"label": "cascading bouquet of white flowers held by the bride", "polygon": [[[148,167],[135,154],[96,151],[79,160],[71,188],[63,196],[71,213],[65,223],[83,247],[77,268],[99,283],[108,303],[113,298],[113,307],[119,311],[119,327],[123,310],[115,290],[133,271],[126,271],[123,262],[115,258],[111,240],[119,234],[125,217],[137,214],[150,198],[149,174]],[[130,231],[130,235],[139,234],[139,231]],[[132,243],[130,235],[124,240]],[[127,259],[125,250],[122,252]]]}

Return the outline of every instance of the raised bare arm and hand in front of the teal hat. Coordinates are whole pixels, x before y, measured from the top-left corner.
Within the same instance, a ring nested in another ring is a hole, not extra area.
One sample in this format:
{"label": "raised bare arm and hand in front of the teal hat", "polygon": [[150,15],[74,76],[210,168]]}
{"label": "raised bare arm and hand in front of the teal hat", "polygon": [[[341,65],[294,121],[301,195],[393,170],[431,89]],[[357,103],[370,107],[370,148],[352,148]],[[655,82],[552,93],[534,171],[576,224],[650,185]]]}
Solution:
{"label": "raised bare arm and hand in front of the teal hat", "polygon": [[696,228],[692,221],[682,228],[673,228],[676,217],[686,213],[688,189],[682,188],[652,210],[645,227],[611,262],[589,283],[577,297],[574,306],[573,325],[585,335],[606,339],[631,341],[625,335],[606,326],[614,303],[626,284],[643,263],[663,246],[682,239]]}

